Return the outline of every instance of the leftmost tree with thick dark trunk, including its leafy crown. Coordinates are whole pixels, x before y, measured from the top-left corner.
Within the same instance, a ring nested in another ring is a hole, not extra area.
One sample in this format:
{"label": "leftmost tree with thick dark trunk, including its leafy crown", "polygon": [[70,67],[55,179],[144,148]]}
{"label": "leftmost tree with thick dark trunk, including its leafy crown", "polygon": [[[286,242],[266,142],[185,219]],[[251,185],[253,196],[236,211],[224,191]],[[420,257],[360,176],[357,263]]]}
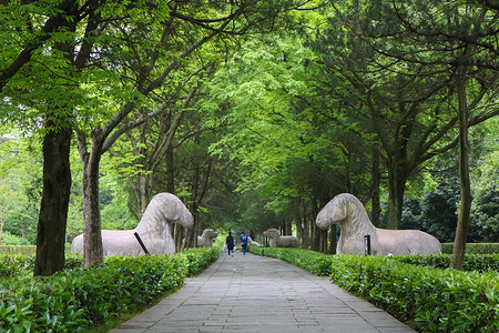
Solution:
{"label": "leftmost tree with thick dark trunk, including its leafy crown", "polygon": [[[80,6],[65,0],[19,6],[10,1],[2,6],[1,18],[8,23],[2,24],[1,38],[12,47],[2,51],[2,59],[8,59],[0,72],[0,88],[7,97],[2,101],[19,109],[38,109],[43,119],[43,192],[35,275],[51,275],[64,266],[71,122],[80,102],[79,75],[90,57],[100,2]],[[29,122],[26,115],[20,121]]]}

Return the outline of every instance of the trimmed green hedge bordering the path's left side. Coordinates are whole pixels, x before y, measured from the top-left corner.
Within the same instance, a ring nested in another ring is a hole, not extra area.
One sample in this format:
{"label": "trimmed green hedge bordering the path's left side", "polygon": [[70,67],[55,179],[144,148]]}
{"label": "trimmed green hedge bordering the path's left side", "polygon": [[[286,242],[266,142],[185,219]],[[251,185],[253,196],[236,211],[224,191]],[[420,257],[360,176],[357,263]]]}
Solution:
{"label": "trimmed green hedge bordering the path's left side", "polygon": [[67,269],[33,278],[32,258],[4,255],[0,265],[1,332],[75,332],[91,329],[121,313],[146,307],[201,273],[218,258],[216,249],[177,254],[108,258],[81,268],[70,256]]}

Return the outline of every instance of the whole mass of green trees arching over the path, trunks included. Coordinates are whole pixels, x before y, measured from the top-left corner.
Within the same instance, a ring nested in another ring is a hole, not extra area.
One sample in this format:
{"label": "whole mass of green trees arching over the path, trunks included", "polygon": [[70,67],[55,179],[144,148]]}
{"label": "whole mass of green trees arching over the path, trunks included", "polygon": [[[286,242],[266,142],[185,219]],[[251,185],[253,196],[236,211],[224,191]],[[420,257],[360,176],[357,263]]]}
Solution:
{"label": "whole mass of green trees arching over the path, trunks included", "polygon": [[157,192],[194,214],[177,250],[272,226],[326,252],[315,216],[343,192],[456,253],[497,229],[489,1],[18,2],[0,9],[0,186],[22,199],[0,220],[37,241],[39,274],[63,266],[67,230],[101,262],[101,229]]}

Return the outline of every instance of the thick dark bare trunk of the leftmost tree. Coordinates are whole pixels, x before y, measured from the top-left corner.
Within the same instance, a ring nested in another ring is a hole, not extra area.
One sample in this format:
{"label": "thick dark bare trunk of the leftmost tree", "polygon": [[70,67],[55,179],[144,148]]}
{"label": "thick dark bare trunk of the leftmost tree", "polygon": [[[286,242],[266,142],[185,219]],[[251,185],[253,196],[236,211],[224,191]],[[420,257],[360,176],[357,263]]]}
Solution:
{"label": "thick dark bare trunk of the leftmost tree", "polygon": [[43,192],[37,232],[34,276],[48,276],[64,268],[65,225],[71,190],[71,128],[47,122],[43,139]]}

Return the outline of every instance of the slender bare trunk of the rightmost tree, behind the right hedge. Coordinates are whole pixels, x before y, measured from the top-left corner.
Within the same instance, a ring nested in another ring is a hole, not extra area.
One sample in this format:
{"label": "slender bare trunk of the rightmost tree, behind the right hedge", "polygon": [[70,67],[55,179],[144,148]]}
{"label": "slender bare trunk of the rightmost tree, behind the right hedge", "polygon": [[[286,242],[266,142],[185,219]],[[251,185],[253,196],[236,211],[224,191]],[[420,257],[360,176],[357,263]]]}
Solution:
{"label": "slender bare trunk of the rightmost tree, behind the right hedge", "polygon": [[456,270],[462,270],[471,208],[468,158],[468,103],[466,98],[466,79],[462,74],[462,69],[459,70],[459,74],[457,92],[459,99],[459,179],[461,185],[461,203],[459,206],[456,239],[454,241],[452,259],[450,261],[450,268]]}

